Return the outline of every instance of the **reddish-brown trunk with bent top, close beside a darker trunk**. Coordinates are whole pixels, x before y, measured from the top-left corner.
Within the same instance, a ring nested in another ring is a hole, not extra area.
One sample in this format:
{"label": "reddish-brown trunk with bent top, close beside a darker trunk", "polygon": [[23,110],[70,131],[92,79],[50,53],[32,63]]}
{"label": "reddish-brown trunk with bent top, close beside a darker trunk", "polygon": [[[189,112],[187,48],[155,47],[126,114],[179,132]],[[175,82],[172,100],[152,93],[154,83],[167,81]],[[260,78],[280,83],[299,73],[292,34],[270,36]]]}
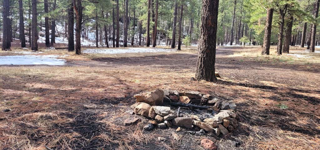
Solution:
{"label": "reddish-brown trunk with bent top, close beside a darker trunk", "polygon": [[72,0],[76,12],[76,54],[81,54],[82,0]]}

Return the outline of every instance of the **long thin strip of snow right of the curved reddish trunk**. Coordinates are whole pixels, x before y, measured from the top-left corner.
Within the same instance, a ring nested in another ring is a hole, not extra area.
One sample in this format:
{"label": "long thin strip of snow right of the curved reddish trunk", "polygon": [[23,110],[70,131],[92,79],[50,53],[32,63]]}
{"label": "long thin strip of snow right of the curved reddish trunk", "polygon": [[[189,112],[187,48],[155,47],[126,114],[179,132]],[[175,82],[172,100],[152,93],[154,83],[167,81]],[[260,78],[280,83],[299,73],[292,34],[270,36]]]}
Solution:
{"label": "long thin strip of snow right of the curved reddish trunk", "polygon": [[144,52],[170,52],[172,49],[163,48],[137,48],[130,47],[127,49],[86,49],[84,53],[99,53],[99,54],[120,54],[120,53],[144,53]]}

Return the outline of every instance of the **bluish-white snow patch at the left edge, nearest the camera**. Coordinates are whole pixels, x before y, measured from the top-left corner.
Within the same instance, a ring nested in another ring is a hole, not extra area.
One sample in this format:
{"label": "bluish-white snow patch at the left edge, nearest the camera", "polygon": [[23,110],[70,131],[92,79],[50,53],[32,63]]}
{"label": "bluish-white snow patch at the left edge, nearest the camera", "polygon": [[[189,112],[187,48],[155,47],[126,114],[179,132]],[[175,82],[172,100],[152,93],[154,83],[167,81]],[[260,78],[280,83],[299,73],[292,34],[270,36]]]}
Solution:
{"label": "bluish-white snow patch at the left edge, nearest the camera", "polygon": [[59,55],[16,55],[0,56],[0,65],[64,65]]}

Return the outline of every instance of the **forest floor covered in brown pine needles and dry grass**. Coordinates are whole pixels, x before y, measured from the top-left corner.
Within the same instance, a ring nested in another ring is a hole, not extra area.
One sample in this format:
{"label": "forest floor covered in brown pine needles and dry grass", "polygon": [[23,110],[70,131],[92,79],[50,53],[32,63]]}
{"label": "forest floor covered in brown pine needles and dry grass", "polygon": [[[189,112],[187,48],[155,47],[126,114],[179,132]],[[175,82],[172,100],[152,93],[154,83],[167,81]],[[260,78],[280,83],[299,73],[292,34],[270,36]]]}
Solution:
{"label": "forest floor covered in brown pine needles and dry grass", "polygon": [[[66,65],[0,66],[0,149],[197,150],[203,138],[219,150],[320,149],[320,53],[292,47],[297,55],[276,56],[272,46],[271,55],[261,56],[260,47],[218,47],[221,78],[210,83],[189,81],[195,49],[81,56],[44,50],[37,55],[68,55]],[[19,54],[0,52],[5,55]],[[183,130],[179,141],[171,138],[175,128],[143,131],[148,120],[141,116],[137,125],[124,126],[133,95],[156,88],[234,100],[239,126],[219,137]],[[167,140],[158,142],[159,136]]]}

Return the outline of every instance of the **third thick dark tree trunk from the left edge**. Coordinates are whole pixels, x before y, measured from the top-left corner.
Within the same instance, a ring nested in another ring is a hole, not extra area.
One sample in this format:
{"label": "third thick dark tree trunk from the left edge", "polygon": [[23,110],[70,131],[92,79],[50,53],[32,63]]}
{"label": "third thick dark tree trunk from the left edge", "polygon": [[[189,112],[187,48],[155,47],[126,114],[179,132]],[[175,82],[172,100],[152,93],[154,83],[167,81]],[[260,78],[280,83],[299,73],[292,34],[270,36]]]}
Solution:
{"label": "third thick dark tree trunk from the left edge", "polygon": [[38,31],[37,31],[37,0],[32,0],[32,35],[31,50],[38,51]]}

